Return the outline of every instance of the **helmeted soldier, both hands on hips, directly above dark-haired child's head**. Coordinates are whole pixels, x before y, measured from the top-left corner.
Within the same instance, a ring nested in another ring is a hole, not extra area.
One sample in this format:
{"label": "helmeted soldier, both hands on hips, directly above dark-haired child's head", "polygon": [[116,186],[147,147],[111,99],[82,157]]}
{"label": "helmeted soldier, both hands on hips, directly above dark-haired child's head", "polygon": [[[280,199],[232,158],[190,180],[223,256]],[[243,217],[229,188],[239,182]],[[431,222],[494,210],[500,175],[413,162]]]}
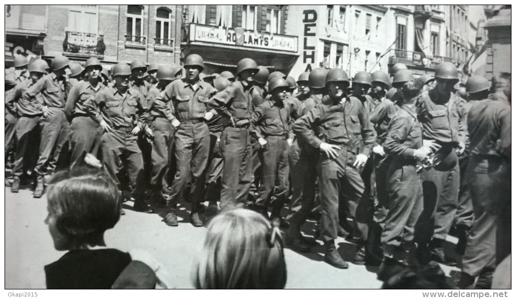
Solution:
{"label": "helmeted soldier, both hands on hips, directly above dark-haired child's head", "polygon": [[137,144],[137,135],[148,118],[146,100],[140,92],[129,88],[129,65],[120,62],[111,70],[115,86],[91,95],[84,103],[84,110],[104,130],[101,151],[105,170],[122,189],[118,176],[125,169],[135,198],[134,210],[152,213],[143,198],[143,160]]}

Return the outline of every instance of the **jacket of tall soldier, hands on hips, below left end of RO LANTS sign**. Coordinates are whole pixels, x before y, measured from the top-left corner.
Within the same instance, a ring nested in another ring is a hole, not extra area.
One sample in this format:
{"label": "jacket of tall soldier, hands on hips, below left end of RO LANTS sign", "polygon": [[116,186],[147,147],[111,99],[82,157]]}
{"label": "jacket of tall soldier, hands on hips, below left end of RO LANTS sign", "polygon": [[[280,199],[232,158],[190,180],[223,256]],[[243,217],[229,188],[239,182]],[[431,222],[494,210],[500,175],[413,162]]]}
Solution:
{"label": "jacket of tall soldier, hands on hips, below left end of RO LANTS sign", "polygon": [[[197,82],[195,89],[186,78],[174,80],[154,98],[153,106],[165,114],[169,121],[202,120],[208,108],[209,97],[216,91],[213,86],[201,80]],[[171,103],[168,104],[169,102]]]}

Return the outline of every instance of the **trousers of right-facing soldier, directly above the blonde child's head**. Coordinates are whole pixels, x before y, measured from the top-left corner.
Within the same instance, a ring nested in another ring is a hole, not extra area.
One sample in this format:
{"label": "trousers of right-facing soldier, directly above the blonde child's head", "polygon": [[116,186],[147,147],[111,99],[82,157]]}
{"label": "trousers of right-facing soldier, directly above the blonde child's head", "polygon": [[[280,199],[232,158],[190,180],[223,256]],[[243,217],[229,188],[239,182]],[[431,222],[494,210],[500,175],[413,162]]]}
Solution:
{"label": "trousers of right-facing soldier, directly above the blonde child's head", "polygon": [[220,191],[221,208],[243,206],[251,188],[253,170],[249,129],[224,128],[220,136],[220,151],[224,159]]}

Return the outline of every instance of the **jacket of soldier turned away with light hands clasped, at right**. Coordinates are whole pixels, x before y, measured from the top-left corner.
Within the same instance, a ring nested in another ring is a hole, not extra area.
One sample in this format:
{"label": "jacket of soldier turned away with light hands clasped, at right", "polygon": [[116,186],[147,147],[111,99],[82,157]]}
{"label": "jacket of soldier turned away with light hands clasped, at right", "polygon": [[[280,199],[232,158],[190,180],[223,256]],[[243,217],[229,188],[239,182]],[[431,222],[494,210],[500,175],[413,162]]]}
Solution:
{"label": "jacket of soldier turned away with light hands clasped, at right", "polygon": [[383,144],[385,152],[395,161],[415,164],[414,150],[423,146],[422,129],[413,107],[403,105],[389,124],[388,134]]}

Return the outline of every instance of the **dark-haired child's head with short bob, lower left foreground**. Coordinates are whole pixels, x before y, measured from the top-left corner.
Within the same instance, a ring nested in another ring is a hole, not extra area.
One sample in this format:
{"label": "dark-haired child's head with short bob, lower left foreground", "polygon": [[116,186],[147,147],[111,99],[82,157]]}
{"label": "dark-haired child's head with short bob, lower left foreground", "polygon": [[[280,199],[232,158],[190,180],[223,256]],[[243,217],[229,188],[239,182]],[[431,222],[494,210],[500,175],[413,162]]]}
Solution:
{"label": "dark-haired child's head with short bob, lower left foreground", "polygon": [[98,170],[60,172],[49,182],[45,223],[57,250],[104,243],[104,231],[120,219],[120,193]]}

